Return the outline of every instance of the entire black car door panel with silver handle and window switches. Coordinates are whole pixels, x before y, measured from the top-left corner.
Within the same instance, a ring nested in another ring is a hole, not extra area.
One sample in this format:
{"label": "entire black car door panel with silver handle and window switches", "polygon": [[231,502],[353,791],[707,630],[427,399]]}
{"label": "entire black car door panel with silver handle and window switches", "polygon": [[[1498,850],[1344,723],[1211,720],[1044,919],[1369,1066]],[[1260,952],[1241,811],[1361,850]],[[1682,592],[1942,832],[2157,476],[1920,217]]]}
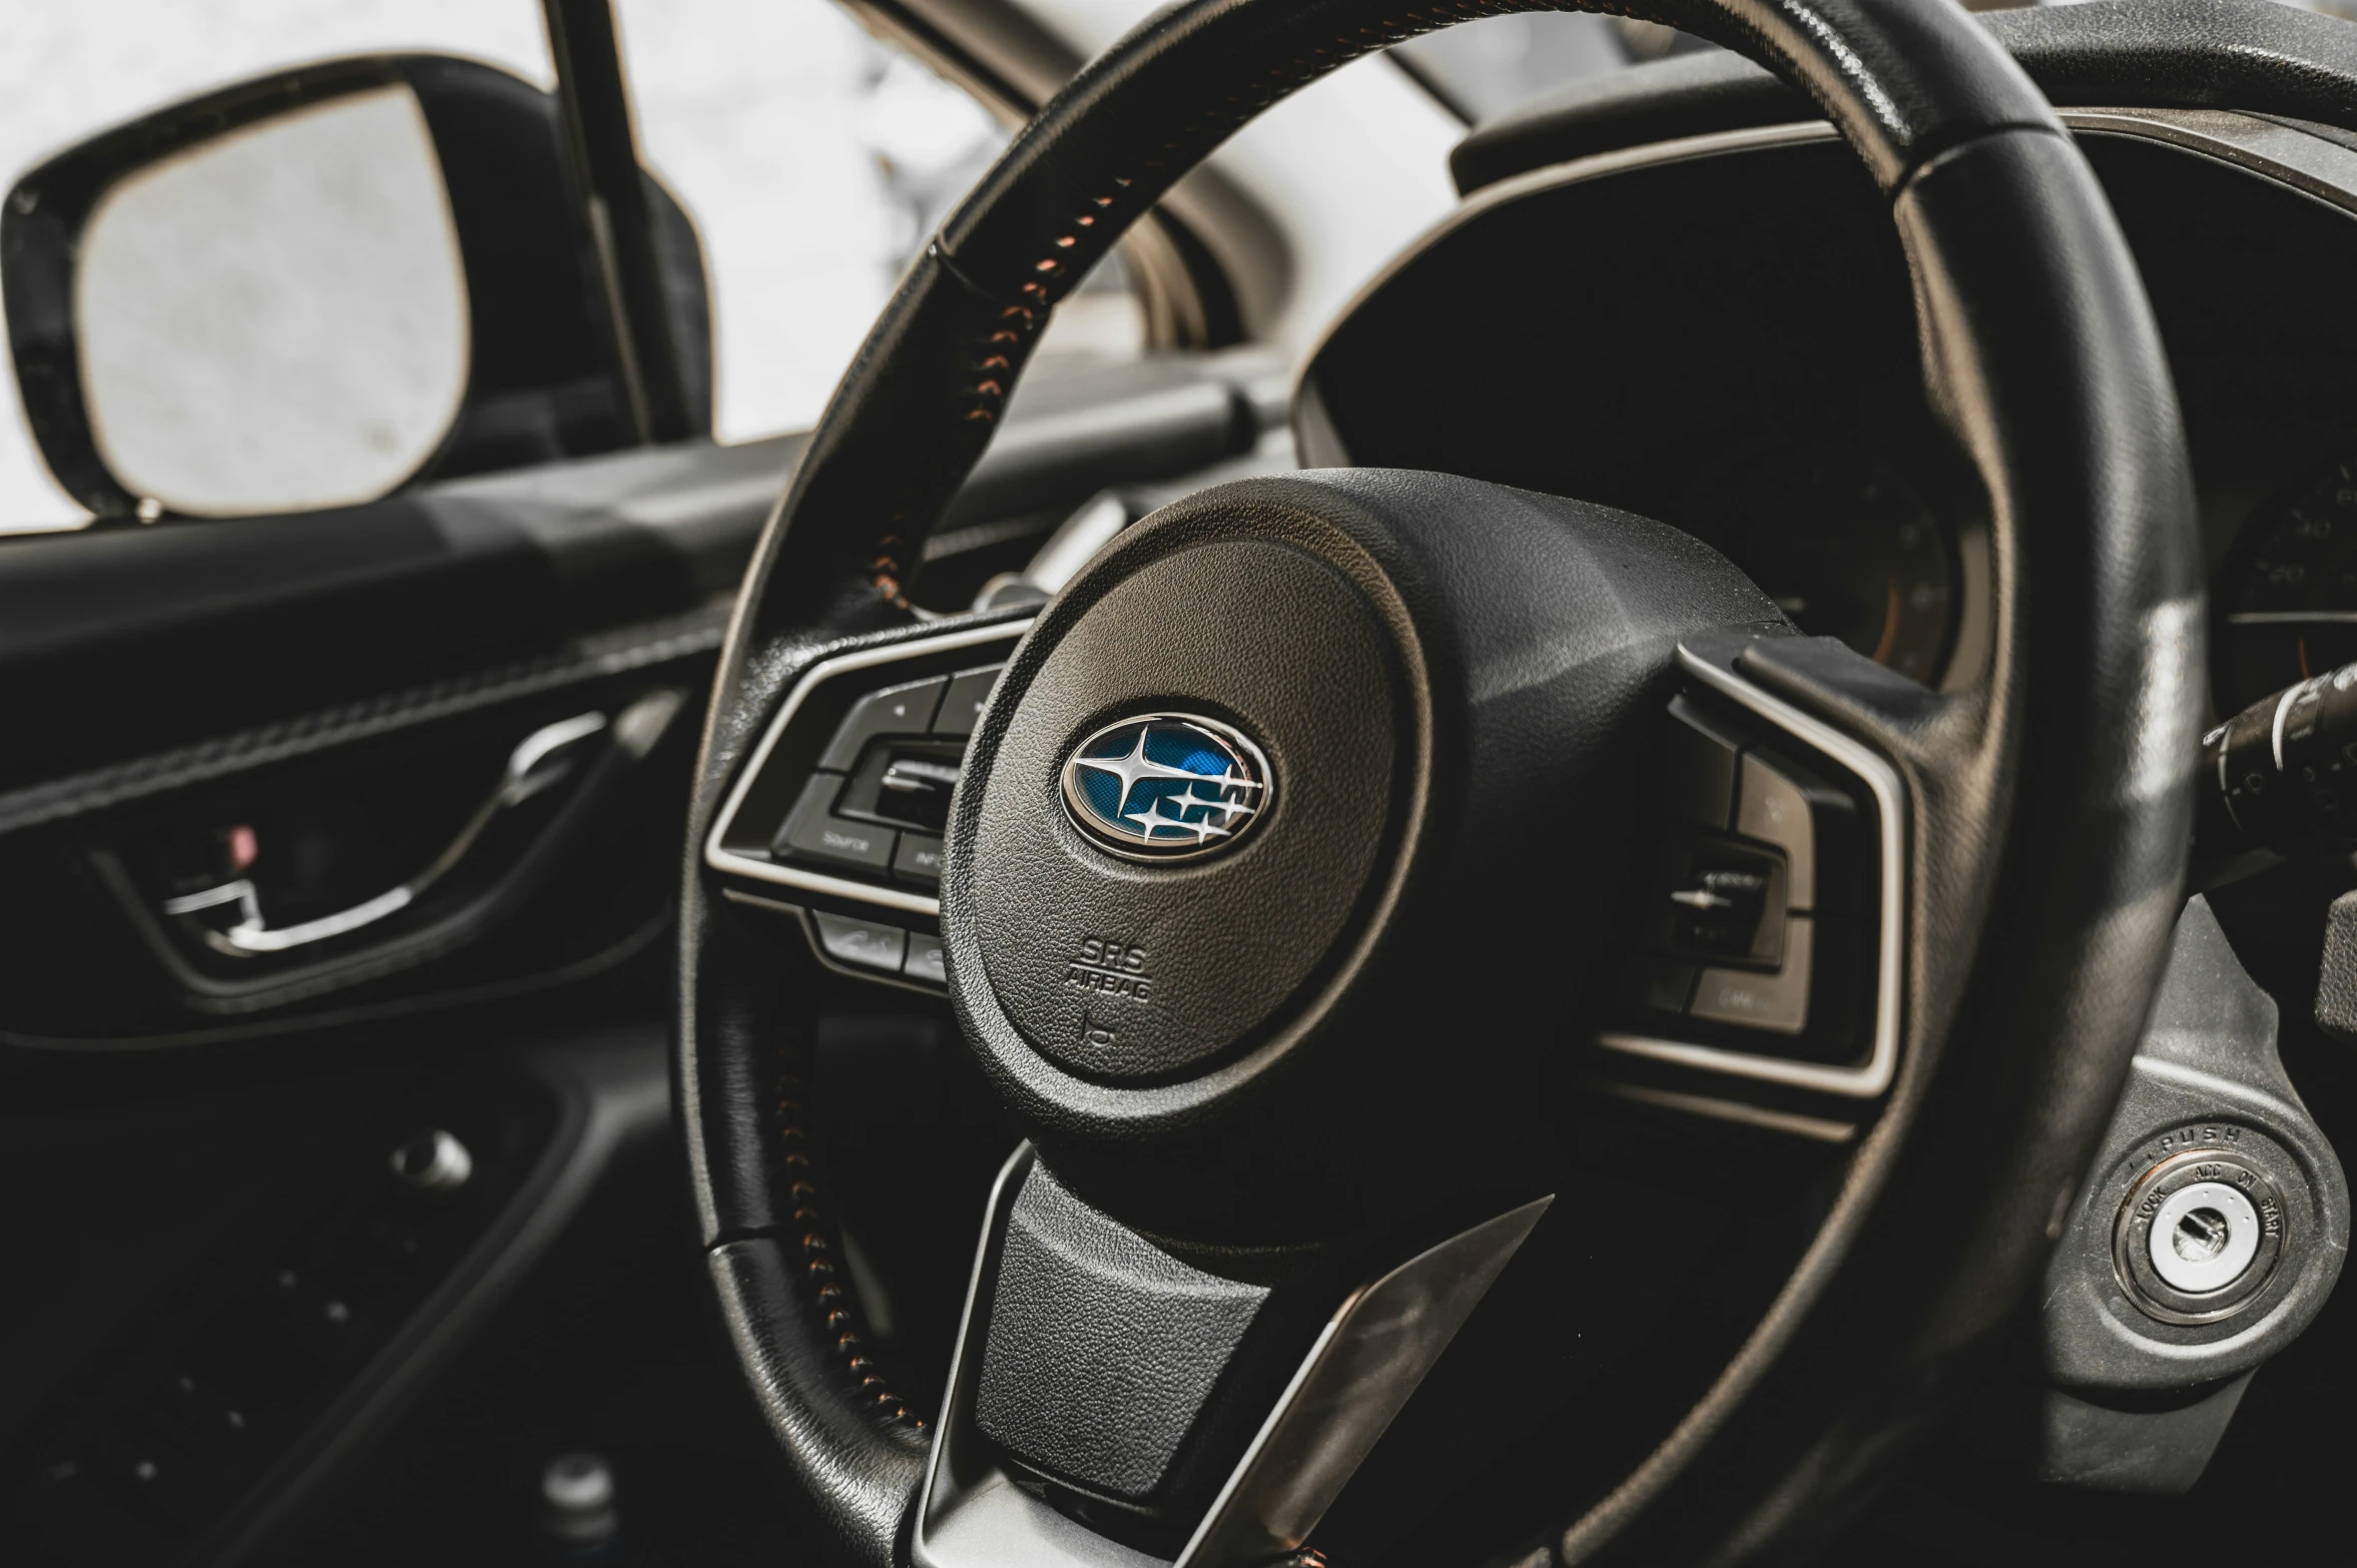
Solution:
{"label": "entire black car door panel with silver handle and window switches", "polygon": [[[1021,567],[1105,485],[1136,511],[1282,461],[1280,410],[1256,360],[1044,381],[959,497],[936,591]],[[483,1326],[533,1337],[552,1257],[669,1234],[660,937],[686,763],[799,447],[0,546],[0,1175],[42,1194],[0,1241],[54,1283],[5,1321],[9,1547],[266,1556],[405,1410],[450,1398]],[[306,843],[313,876],[288,881]],[[238,883],[247,906],[205,902]],[[405,885],[408,909],[271,946]],[[387,1285],[349,1234],[403,1198],[387,1158],[420,1128],[476,1149],[476,1196]],[[342,1347],[280,1321],[335,1300],[358,1323]],[[309,1344],[299,1375],[257,1358],[264,1309],[264,1344]],[[193,1453],[189,1410],[224,1401],[257,1441]]]}

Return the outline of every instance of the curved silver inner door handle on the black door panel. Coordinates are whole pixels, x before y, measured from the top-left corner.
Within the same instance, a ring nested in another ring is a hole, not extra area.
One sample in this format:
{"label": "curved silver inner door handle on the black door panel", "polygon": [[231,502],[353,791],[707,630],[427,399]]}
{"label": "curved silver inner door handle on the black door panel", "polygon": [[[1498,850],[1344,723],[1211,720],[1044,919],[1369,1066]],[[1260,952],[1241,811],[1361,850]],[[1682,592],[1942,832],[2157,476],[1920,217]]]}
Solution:
{"label": "curved silver inner door handle on the black door panel", "polygon": [[[186,892],[181,897],[165,899],[163,913],[184,918],[205,946],[233,958],[285,954],[375,925],[377,921],[412,906],[427,895],[427,890],[464,864],[467,852],[474,850],[476,841],[483,838],[483,831],[490,829],[490,824],[504,812],[570,777],[582,765],[587,744],[599,735],[610,730],[615,746],[629,756],[643,756],[679,709],[679,702],[676,692],[655,692],[632,704],[618,720],[608,720],[603,713],[592,711],[533,730],[516,742],[514,751],[507,753],[507,768],[500,770],[500,782],[488,796],[483,796],[481,805],[469,812],[467,822],[443,845],[443,850],[412,878],[370,899],[361,899],[358,904],[335,913],[299,921],[295,925],[271,925],[262,913],[262,897],[255,890],[252,878],[240,876],[217,888],[205,888],[203,892]],[[662,711],[653,713],[648,711],[648,704],[662,704]],[[222,906],[233,906],[238,911],[238,921],[233,925],[222,928],[193,918],[207,909]]]}

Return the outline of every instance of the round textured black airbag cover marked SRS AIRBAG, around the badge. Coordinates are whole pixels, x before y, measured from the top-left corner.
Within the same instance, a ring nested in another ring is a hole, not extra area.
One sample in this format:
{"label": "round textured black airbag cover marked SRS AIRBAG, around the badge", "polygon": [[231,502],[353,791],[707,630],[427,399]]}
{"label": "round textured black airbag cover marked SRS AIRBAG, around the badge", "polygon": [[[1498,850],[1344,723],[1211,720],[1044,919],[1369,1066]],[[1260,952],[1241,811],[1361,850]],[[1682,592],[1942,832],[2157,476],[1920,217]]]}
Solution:
{"label": "round textured black airbag cover marked SRS AIRBAG, around the badge", "polygon": [[[1195,539],[1110,584],[999,692],[1004,737],[964,784],[985,791],[971,918],[990,989],[1032,1048],[1105,1083],[1183,1076],[1266,1026],[1351,930],[1393,817],[1395,662],[1358,584],[1244,527]],[[1072,826],[1065,760],[1138,713],[1266,751],[1270,800],[1235,848],[1141,864]]]}

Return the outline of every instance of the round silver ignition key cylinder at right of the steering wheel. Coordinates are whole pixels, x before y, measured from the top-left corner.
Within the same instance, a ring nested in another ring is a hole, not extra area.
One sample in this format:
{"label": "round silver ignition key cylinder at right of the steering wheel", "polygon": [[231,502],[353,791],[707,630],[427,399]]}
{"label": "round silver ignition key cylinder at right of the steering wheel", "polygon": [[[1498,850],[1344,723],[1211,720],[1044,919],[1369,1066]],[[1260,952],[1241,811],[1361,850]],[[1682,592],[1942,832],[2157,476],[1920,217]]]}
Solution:
{"label": "round silver ignition key cylinder at right of the steering wheel", "polygon": [[2225,1149],[2187,1149],[2147,1170],[2112,1231],[2121,1288],[2164,1323],[2216,1323],[2246,1309],[2282,1250],[2282,1194]]}

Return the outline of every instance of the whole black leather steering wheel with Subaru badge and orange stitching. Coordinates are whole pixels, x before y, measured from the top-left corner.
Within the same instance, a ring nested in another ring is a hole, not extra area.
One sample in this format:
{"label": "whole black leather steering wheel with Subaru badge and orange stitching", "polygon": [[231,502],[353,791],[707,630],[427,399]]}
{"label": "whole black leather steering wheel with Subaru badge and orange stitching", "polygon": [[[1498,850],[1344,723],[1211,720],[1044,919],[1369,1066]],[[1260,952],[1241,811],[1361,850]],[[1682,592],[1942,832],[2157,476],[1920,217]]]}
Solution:
{"label": "whole black leather steering wheel with Subaru badge and orange stitching", "polygon": [[[816,664],[978,624],[905,586],[1127,224],[1334,66],[1523,9],[1553,7],[1188,0],[1138,26],[903,278],[761,539],[702,744],[679,1090],[735,1351],[849,1561],[1275,1561],[1369,1455],[1511,1427],[1648,1267],[1626,1260],[1678,1248],[1676,1215],[1563,1154],[1574,1104],[1615,1114],[1579,1062],[1650,918],[1629,888],[1662,800],[1702,777],[1662,739],[1678,692],[1850,789],[1867,1043],[1652,1057],[1838,1090],[1857,1132],[1739,1333],[1652,1351],[1671,1420],[1586,1471],[1497,1471],[1563,1559],[1732,1561],[1827,1528],[1989,1354],[2105,1128],[2180,904],[2204,669],[2185,438],[2128,247],[1947,0],[1610,7],[1803,87],[1890,202],[1930,403],[1987,490],[1987,666],[1930,692],[1794,633],[1671,527],[1445,473],[1244,480],[1127,530],[1023,633],[952,800],[948,991],[1032,1137],[943,1408],[872,1354],[811,1151],[813,986],[724,899],[714,810]],[[1551,1293],[1499,1307],[1546,1245]],[[1414,1398],[1459,1328],[1487,1408]],[[1499,1544],[1461,1523],[1468,1554]]]}

